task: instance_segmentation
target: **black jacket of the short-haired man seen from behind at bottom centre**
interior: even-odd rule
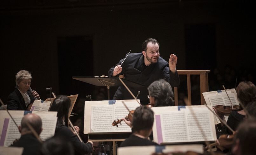
[[[129,138],[125,139],[120,145],[120,147],[125,146],[149,146],[149,145],[158,145],[155,142],[152,142],[146,138],[140,138],[134,134],[131,134]]]

